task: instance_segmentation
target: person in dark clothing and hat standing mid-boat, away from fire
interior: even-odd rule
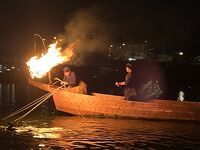
[[[133,77],[133,67],[130,63],[126,64],[126,72],[127,75],[125,77],[125,81],[123,82],[115,82],[116,86],[125,86],[124,88],[124,96],[125,100],[133,100],[136,96],[136,90],[134,88],[134,77]]]

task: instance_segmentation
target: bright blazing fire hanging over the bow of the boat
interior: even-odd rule
[[[61,52],[61,47],[57,47],[58,42],[49,45],[45,54],[41,57],[34,56],[26,64],[29,68],[31,78],[42,78],[51,68],[70,60],[76,42],[70,44]]]

